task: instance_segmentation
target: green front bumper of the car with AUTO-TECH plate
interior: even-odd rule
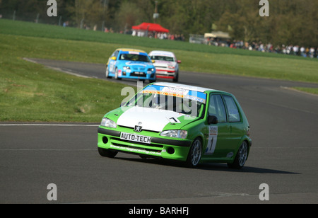
[[[121,132],[151,137],[151,144],[121,139]],[[189,139],[161,137],[158,132],[144,130],[137,133],[134,132],[133,129],[126,127],[117,127],[117,129],[107,127],[98,128],[98,147],[131,154],[186,161],[191,144],[192,141]]]

